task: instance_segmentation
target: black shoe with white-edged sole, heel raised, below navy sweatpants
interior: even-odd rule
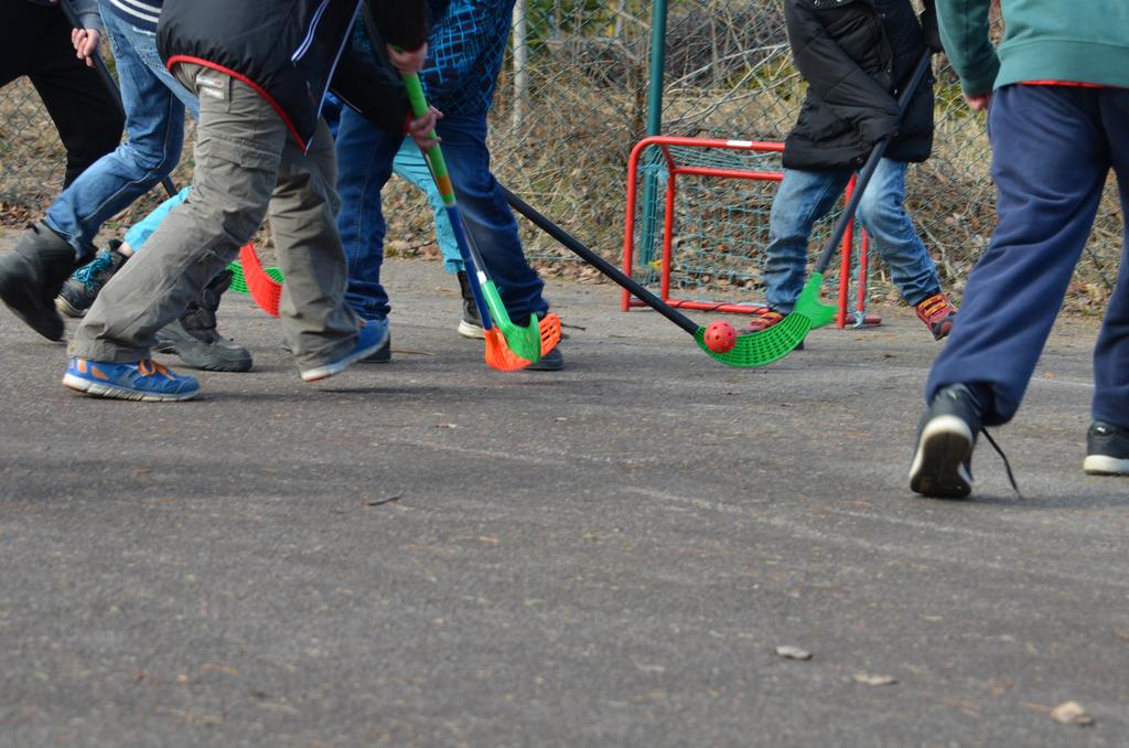
[[[937,416],[921,430],[910,488],[925,496],[964,498],[972,493],[972,476],[964,462],[972,454],[972,432],[956,416]]]

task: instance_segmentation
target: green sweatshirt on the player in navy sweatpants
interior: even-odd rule
[[[991,0],[936,0],[945,52],[966,94],[1056,80],[1129,88],[1129,0],[1001,0],[1004,41],[988,38]]]

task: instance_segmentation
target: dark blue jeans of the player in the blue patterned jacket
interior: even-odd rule
[[[466,231],[482,252],[510,319],[524,324],[549,305],[541,296],[544,284],[525,260],[514,214],[490,173],[485,114],[448,114],[437,130]],[[403,136],[377,129],[352,110],[342,111],[336,145],[338,229],[349,261],[345,301],[367,320],[384,319],[390,310],[380,285],[386,231],[380,190],[403,145]]]

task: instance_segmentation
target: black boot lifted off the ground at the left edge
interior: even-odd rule
[[[0,301],[47,340],[63,339],[63,318],[55,296],[75,271],[75,250],[44,223],[20,237],[11,254],[0,258]]]

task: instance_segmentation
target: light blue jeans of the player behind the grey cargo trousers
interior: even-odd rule
[[[95,253],[94,237],[103,223],[176,168],[184,146],[184,110],[193,116],[199,111],[195,98],[165,69],[155,35],[110,10],[102,15],[125,105],[126,140],[63,190],[45,218],[79,260]]]

